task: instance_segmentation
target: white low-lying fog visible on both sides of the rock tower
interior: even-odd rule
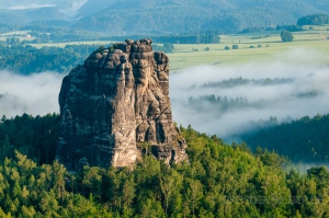
[[[268,62],[200,66],[170,74],[173,118],[183,126],[225,139],[248,130],[250,122],[329,113],[329,60],[314,50],[292,49]],[[30,77],[0,71],[0,116],[59,111],[64,74]]]

